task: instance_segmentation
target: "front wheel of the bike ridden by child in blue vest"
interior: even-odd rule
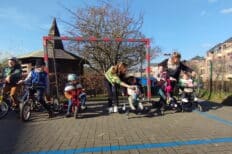
[[[22,121],[29,121],[31,117],[31,104],[33,100],[20,103],[20,119]]]

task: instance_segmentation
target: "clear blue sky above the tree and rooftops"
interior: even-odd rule
[[[53,17],[70,19],[62,5],[76,9],[96,0],[1,0],[0,56],[21,55],[42,49]],[[125,5],[126,0],[114,0]],[[131,13],[144,13],[142,32],[165,52],[177,49],[183,59],[206,51],[232,37],[231,0],[128,0]],[[67,26],[57,20],[60,33]],[[157,59],[160,61],[163,57]]]

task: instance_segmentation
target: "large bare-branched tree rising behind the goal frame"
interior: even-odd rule
[[[109,2],[103,2],[100,6],[86,6],[75,12],[67,10],[73,15],[74,21],[63,22],[72,27],[68,33],[73,37],[124,39],[145,37],[140,31],[143,15],[133,17],[128,6],[121,9]],[[70,42],[68,47],[87,59],[90,68],[100,74],[119,61],[136,66],[141,63],[141,59],[145,60],[146,53],[144,44],[139,42]]]

